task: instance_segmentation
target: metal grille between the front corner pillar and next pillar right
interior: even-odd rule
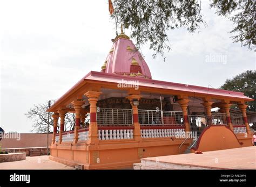
[[[103,125],[132,125],[131,109],[99,109],[97,112],[97,124]]]

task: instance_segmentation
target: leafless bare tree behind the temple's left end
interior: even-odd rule
[[[55,102],[55,100],[51,100],[52,104]],[[33,129],[32,132],[37,133],[47,133],[47,126],[48,126],[48,112],[46,110],[48,109],[48,102],[45,102],[43,104],[37,104],[34,105],[33,108],[31,108],[27,113],[25,113],[25,116],[33,121]],[[50,119],[49,119],[49,131],[53,131],[53,118],[51,115],[53,112],[50,112]],[[74,113],[66,113],[65,117],[65,131],[70,131],[75,126],[75,114]],[[58,125],[57,132],[59,132],[60,127]]]

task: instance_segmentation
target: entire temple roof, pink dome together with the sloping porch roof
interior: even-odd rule
[[[123,30],[113,41],[113,46],[102,66],[102,71],[90,71],[47,111],[55,111],[59,105],[72,102],[74,95],[85,92],[84,86],[87,83],[118,85],[120,80],[138,81],[138,86],[142,91],[147,90],[173,95],[185,94],[193,97],[210,96],[218,99],[230,99],[231,101],[254,100],[245,96],[242,92],[152,80],[147,63]]]

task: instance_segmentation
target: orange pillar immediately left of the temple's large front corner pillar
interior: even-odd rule
[[[78,130],[80,128],[80,115],[81,115],[81,110],[82,110],[83,104],[84,104],[84,102],[82,99],[77,99],[73,102],[73,106],[76,111],[76,125],[75,125],[73,143],[77,143],[77,141],[78,141]]]

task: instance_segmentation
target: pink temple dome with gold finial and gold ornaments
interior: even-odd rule
[[[133,77],[152,78],[150,69],[132,40],[124,34],[123,29],[106,57],[102,71],[110,74]]]

